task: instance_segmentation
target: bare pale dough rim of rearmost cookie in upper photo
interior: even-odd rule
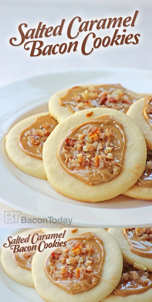
[[[99,84],[85,84],[85,85],[79,85],[79,86],[87,88],[89,85],[98,86]],[[51,112],[51,115],[57,120],[58,123],[60,123],[66,117],[73,114],[70,110],[68,110],[68,108],[66,106],[61,106],[60,103],[59,103],[59,99],[61,97],[63,97],[64,95],[66,95],[68,90],[71,89],[71,88],[72,87],[66,88],[66,89],[63,89],[63,90],[60,90],[60,91],[56,92],[54,95],[51,96],[51,98],[49,100],[49,104],[48,104],[49,112]],[[142,98],[143,96],[145,96],[145,94],[137,95],[134,92],[131,92],[131,93],[132,93],[133,96],[134,95],[138,96],[138,98]],[[90,108],[90,109],[92,109],[92,108]]]

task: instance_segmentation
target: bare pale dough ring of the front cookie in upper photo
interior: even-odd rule
[[[93,114],[86,117],[86,113],[90,111],[93,111]],[[62,168],[57,159],[57,148],[70,130],[104,115],[110,115],[122,124],[126,139],[122,165],[133,170],[137,175],[121,168],[119,175],[109,182],[89,186]],[[67,117],[57,125],[43,147],[44,169],[53,188],[69,198],[89,202],[114,198],[132,187],[144,172],[146,157],[146,143],[139,126],[126,114],[109,108],[86,109]]]

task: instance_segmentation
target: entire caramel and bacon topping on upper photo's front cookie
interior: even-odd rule
[[[102,116],[71,130],[57,149],[63,169],[87,185],[108,182],[120,170],[125,147],[122,125]]]

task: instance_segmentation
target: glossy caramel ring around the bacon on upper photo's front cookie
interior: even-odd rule
[[[94,120],[89,120],[88,122],[74,128],[61,141],[61,143],[57,149],[57,158],[60,162],[60,165],[63,167],[63,169],[66,172],[68,172],[70,175],[85,182],[87,185],[96,185],[96,184],[100,184],[102,182],[108,182],[112,178],[116,177],[121,170],[121,167],[119,167],[118,170],[112,174],[111,172],[108,171],[107,168],[101,169],[101,170],[94,169],[93,167],[91,167],[91,168],[87,167],[87,169],[82,169],[82,168],[70,169],[68,167],[68,165],[64,162],[62,150],[65,145],[65,139],[67,137],[73,137],[73,135],[75,135],[74,133],[76,133],[76,132],[79,133],[79,129],[84,129],[85,126],[87,127],[88,125],[94,126],[96,123],[103,124],[104,127],[107,127],[107,128],[109,127],[110,129],[111,129],[111,127],[113,127],[114,132],[117,131],[115,137],[118,136],[118,139],[120,141],[120,146],[119,146],[119,152],[118,152],[118,150],[116,151],[117,160],[113,160],[113,162],[115,162],[115,165],[121,166],[121,164],[119,162],[121,162],[122,158],[123,158],[123,153],[124,153],[124,148],[125,148],[125,134],[124,134],[122,125],[111,116],[103,116],[103,117],[99,117]],[[116,150],[115,147],[114,147],[114,150]]]

